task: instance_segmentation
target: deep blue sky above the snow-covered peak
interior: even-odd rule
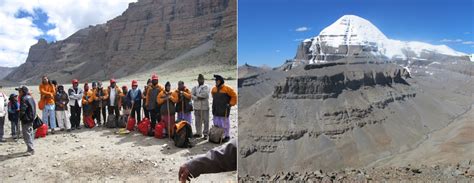
[[[388,38],[474,53],[473,0],[239,0],[239,65],[281,65],[302,39],[343,15],[365,18]],[[297,29],[300,28],[300,31]]]

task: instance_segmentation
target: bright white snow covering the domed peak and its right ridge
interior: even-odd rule
[[[324,28],[318,36],[312,39],[306,39],[304,42],[311,42],[310,51],[313,51],[313,54],[322,55],[327,53],[317,48],[321,46],[338,48],[340,45],[377,47],[377,49],[374,49],[376,50],[374,54],[384,55],[388,58],[406,59],[406,51],[415,53],[417,57],[419,57],[422,52],[435,52],[452,56],[466,55],[446,45],[431,45],[417,41],[406,42],[388,39],[370,21],[356,15],[342,16],[336,22]]]

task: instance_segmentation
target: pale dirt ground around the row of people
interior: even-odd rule
[[[231,75],[232,71],[225,74]],[[119,86],[129,85],[130,78],[119,79]],[[164,85],[165,79],[160,78],[160,84]],[[193,79],[189,77],[184,80],[190,88],[197,84]],[[139,82],[144,80],[139,78]],[[140,83],[140,88],[143,83]],[[173,81],[172,88],[176,83]],[[237,88],[236,80],[226,83]],[[206,84],[213,85],[213,81],[206,80]],[[30,89],[38,101],[38,86],[30,86]],[[2,92],[9,95],[14,90],[4,88]],[[41,115],[41,111],[38,112]],[[212,115],[210,118],[212,124]],[[182,149],[176,148],[168,139],[146,137],[138,132],[121,135],[116,133],[118,129],[95,127],[70,133],[61,131],[35,139],[35,155],[24,156],[26,145],[22,139],[14,141],[11,138],[8,120],[5,121],[4,131],[7,142],[0,143],[1,182],[177,182],[180,165],[219,146],[202,139],[193,139],[196,144],[193,148]],[[233,107],[231,138],[236,136],[237,107]],[[236,182],[236,175],[236,171],[208,174],[192,181]]]

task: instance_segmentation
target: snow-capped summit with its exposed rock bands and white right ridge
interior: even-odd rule
[[[468,56],[446,45],[387,38],[371,22],[355,15],[344,15],[324,28],[316,37],[306,39],[298,48],[296,59],[309,63],[327,62],[355,55],[376,55],[384,59],[424,59],[433,54]]]

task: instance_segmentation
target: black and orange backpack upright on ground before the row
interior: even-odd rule
[[[192,147],[189,139],[193,136],[191,125],[187,121],[180,121],[174,125],[173,141],[174,145],[179,148]]]

